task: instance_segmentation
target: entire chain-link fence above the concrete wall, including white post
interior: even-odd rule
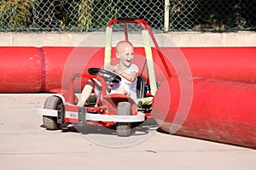
[[[154,31],[255,31],[256,0],[0,0],[0,31],[104,31],[119,16]]]

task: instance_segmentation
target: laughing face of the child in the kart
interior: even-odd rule
[[[127,45],[121,48],[116,55],[117,55],[117,58],[119,58],[119,63],[121,65],[125,65],[126,67],[129,67],[133,59],[133,54],[134,54],[133,48],[130,45]]]

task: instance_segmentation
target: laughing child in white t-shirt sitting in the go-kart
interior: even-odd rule
[[[108,65],[107,70],[117,73],[121,77],[119,88],[112,90],[111,94],[126,94],[132,99],[137,99],[137,74],[138,67],[132,63],[134,57],[134,49],[131,42],[121,41],[116,45],[116,57],[119,59],[119,64]],[[89,80],[82,91],[81,98],[79,99],[79,106],[84,106],[86,100],[90,97],[95,82]],[[99,85],[96,85],[99,86]]]

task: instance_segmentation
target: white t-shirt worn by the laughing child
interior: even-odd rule
[[[137,65],[131,64],[130,67],[125,71],[127,74],[131,74],[132,72],[138,73],[139,69]],[[120,76],[121,77],[121,76]],[[113,88],[111,89],[111,94],[116,93],[116,90],[119,88],[119,86],[122,86],[125,88],[125,94],[130,96],[132,99],[137,99],[137,78],[135,81],[130,82],[126,80],[124,77],[121,77],[121,82],[118,84],[114,84]]]

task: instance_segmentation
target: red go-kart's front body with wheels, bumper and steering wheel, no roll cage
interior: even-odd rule
[[[62,123],[73,123],[79,126],[97,125],[103,127],[116,127],[118,136],[131,135],[132,122],[144,122],[145,115],[139,111],[133,99],[124,94],[107,94],[110,82],[120,82],[117,74],[99,69],[90,68],[90,74],[73,75],[69,83],[69,93],[66,96],[55,94],[49,96],[44,103],[44,127],[56,130]],[[95,99],[88,99],[83,107],[77,106],[78,97],[74,95],[73,81],[76,78],[91,78],[101,82]],[[102,96],[102,101],[101,101]],[[67,100],[68,99],[68,100]]]

